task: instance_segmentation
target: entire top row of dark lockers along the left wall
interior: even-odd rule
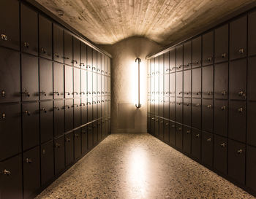
[[[0,45],[110,75],[110,58],[18,0],[2,0]],[[12,10],[12,12],[10,12]]]

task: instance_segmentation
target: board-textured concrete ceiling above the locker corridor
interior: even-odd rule
[[[162,46],[255,0],[36,0],[95,44],[145,36]]]

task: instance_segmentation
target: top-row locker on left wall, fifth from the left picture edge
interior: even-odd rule
[[[65,65],[72,66],[73,58],[73,42],[72,35],[64,31],[64,63]]]

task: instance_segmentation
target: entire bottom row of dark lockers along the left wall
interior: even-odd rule
[[[23,157],[16,155],[1,162],[1,198],[34,198],[41,187],[47,186],[109,133],[110,121],[102,118],[34,147],[24,152]]]

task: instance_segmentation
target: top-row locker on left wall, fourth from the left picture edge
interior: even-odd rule
[[[64,31],[53,23],[53,60],[64,62]]]

